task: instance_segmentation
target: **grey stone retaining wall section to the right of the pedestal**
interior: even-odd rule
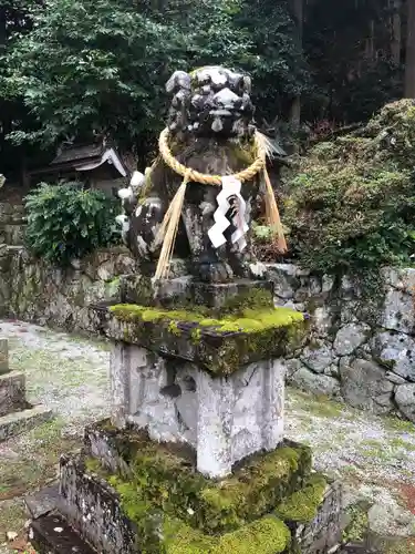
[[[288,264],[269,270],[277,304],[312,316],[309,343],[287,360],[288,381],[415,421],[415,269],[384,269],[372,299],[349,278],[320,278]]]

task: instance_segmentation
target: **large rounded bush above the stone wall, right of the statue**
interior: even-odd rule
[[[286,198],[292,252],[312,270],[350,273],[415,253],[415,103],[386,105],[355,135],[315,146]]]

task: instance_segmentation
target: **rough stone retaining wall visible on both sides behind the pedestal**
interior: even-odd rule
[[[93,332],[87,306],[116,296],[117,277],[135,270],[122,247],[62,270],[0,245],[0,317]],[[269,274],[278,305],[311,315],[309,342],[287,360],[288,381],[415,421],[415,269],[385,269],[385,290],[371,302],[346,278],[289,264],[269,265]]]

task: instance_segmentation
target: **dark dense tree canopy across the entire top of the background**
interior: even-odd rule
[[[2,167],[28,154],[39,164],[42,147],[102,134],[145,154],[169,74],[211,63],[252,75],[260,124],[289,120],[294,103],[311,127],[367,120],[402,98],[405,61],[411,90],[414,1],[2,2]]]

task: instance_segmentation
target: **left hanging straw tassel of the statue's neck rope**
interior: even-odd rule
[[[181,185],[177,189],[164,216],[162,227],[157,234],[157,242],[163,239],[163,246],[154,276],[155,280],[167,279],[168,277],[188,182],[189,173],[186,173]]]

